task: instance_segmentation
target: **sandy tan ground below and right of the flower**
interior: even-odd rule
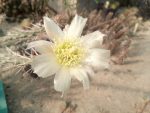
[[[22,74],[0,74],[10,113],[150,113],[150,22],[132,39],[124,65],[99,71],[89,90],[73,81],[61,98],[53,77],[33,79]]]

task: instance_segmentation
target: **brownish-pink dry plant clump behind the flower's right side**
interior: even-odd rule
[[[94,10],[88,15],[85,33],[99,30],[106,34],[103,47],[111,50],[111,61],[115,64],[123,64],[127,57],[131,44],[130,34],[134,26],[140,23],[140,19],[136,16],[137,12],[134,8],[125,9],[116,15],[113,12]]]

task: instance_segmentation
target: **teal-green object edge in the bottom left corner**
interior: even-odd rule
[[[0,113],[8,113],[2,81],[0,81]]]

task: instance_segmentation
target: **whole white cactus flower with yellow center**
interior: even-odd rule
[[[81,38],[86,21],[87,18],[75,15],[71,25],[62,31],[52,19],[44,17],[46,33],[53,42],[39,40],[28,45],[40,53],[31,64],[34,73],[43,78],[55,74],[56,91],[67,91],[72,77],[88,89],[88,75],[93,74],[93,68],[109,66],[110,51],[100,49],[104,34],[95,31]]]

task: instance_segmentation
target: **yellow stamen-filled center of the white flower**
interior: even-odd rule
[[[55,47],[54,52],[58,63],[64,67],[80,64],[84,56],[79,40],[64,40]]]

